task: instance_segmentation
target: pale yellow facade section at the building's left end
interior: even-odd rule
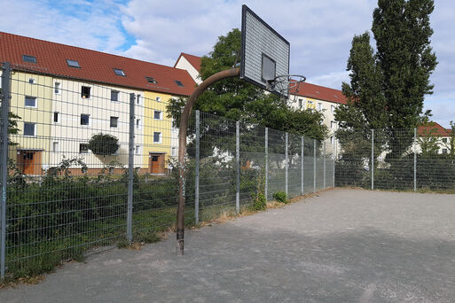
[[[12,136],[16,143],[10,148],[10,158],[17,159],[23,150],[41,151],[41,163],[49,163],[51,151],[51,111],[52,111],[52,78],[41,74],[29,74],[15,71],[11,82],[12,113],[20,116],[18,120],[18,136]],[[35,106],[26,105],[26,97],[35,99]],[[35,125],[33,136],[24,136],[24,124]],[[46,167],[43,167],[46,168]]]

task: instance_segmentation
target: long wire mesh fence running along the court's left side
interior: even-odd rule
[[[2,75],[2,276],[39,274],[169,230],[178,195],[173,96],[13,67]],[[186,140],[186,225],[260,195],[333,186],[333,154],[310,138],[195,112]]]

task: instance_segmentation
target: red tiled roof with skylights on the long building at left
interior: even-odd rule
[[[24,62],[22,55],[35,56],[37,63]],[[78,61],[81,68],[67,66],[67,59]],[[6,61],[16,69],[178,96],[190,96],[196,86],[183,69],[0,32],[0,62]],[[126,76],[114,74],[114,68],[122,69]],[[147,82],[146,76],[157,83]]]

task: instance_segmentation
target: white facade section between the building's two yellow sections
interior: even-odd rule
[[[59,83],[59,89],[56,83]],[[129,95],[134,93],[142,97],[144,92],[59,78],[53,79],[53,85],[50,167],[58,166],[64,157],[81,158],[89,168],[102,168],[112,161],[126,166],[129,152]],[[82,86],[90,88],[89,98],[82,97]],[[111,100],[112,90],[119,92],[118,101]],[[135,104],[137,116],[142,116],[143,105],[137,105],[137,99]],[[58,113],[58,121],[54,121],[54,113]],[[81,125],[82,114],[89,115],[89,125]],[[111,117],[118,117],[117,128],[110,126]],[[142,132],[143,128],[135,128],[135,145],[143,144]],[[80,144],[88,144],[91,136],[99,133],[119,139],[117,154],[102,157],[91,151],[80,152]],[[135,167],[140,167],[141,155],[135,155],[134,160]]]

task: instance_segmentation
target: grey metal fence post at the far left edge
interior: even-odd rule
[[[4,63],[2,74],[2,155],[0,159],[2,173],[2,204],[0,207],[0,278],[4,278],[6,253],[6,185],[8,181],[8,113],[10,111],[10,63]]]

